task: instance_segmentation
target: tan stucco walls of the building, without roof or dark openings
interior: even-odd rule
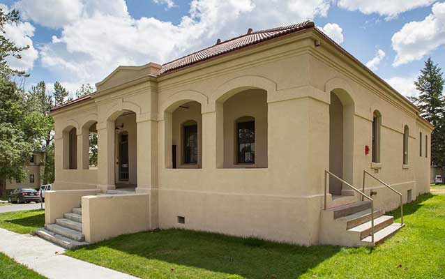
[[[315,47],[315,37],[322,46]],[[56,137],[56,185],[113,188],[114,120],[132,111],[137,126],[137,192],[149,194],[151,227],[317,243],[324,170],[330,162],[329,107],[334,90],[344,95],[342,101],[347,100],[342,178],[361,188],[366,169],[400,190],[405,201],[407,190],[412,190],[413,198],[428,191],[430,159],[419,158],[417,135],[423,129],[430,138],[431,127],[388,86],[308,32],[177,73],[105,89],[82,105],[55,112],[56,135],[66,126],[82,127],[85,121],[97,119],[99,144],[96,177],[85,177],[79,169],[72,173],[60,169],[62,142]],[[245,99],[249,94],[255,95],[253,101]],[[179,137],[180,122],[175,122],[172,112],[190,101],[201,106],[202,167],[172,169],[172,139]],[[372,154],[365,154],[365,146],[372,145],[374,110],[382,114],[379,165],[372,164]],[[255,120],[258,117],[263,125],[255,130],[257,139],[264,137],[267,149],[257,146],[257,168],[232,168],[234,160],[227,158],[234,155],[234,142],[230,143],[234,129],[229,126],[237,117],[252,114],[261,115]],[[405,125],[410,136],[409,164],[404,167]],[[377,207],[398,206],[398,197],[367,181],[367,193],[377,190]],[[345,190],[343,186],[342,193]],[[177,216],[186,218],[185,225],[178,223]]]

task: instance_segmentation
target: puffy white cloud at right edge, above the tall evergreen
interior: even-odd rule
[[[425,54],[445,45],[445,2],[435,3],[432,13],[420,22],[409,22],[391,38],[397,53],[393,66],[422,59]]]

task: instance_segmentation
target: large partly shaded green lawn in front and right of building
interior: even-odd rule
[[[389,214],[396,221],[400,211]],[[167,229],[67,255],[140,278],[445,278],[445,195],[404,206],[406,227],[376,248],[292,246]]]

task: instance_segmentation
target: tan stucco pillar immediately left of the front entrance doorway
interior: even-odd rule
[[[98,188],[114,186],[114,121],[98,123]]]

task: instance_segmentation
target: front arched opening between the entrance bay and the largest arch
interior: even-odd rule
[[[202,114],[196,101],[176,103],[165,111],[167,168],[202,167]]]

